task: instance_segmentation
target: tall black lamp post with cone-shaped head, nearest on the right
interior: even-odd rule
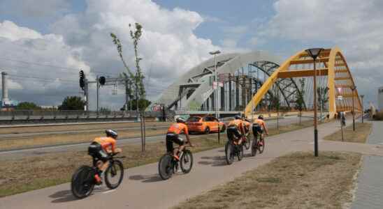
[[[323,48],[312,48],[306,49],[305,51],[314,60],[314,152],[315,157],[318,156],[318,127],[317,127],[317,71],[316,71],[316,60]]]

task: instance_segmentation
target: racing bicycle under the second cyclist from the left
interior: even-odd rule
[[[180,158],[180,161],[175,159],[172,151],[166,153],[159,159],[158,173],[163,180],[171,178],[171,176],[173,176],[173,174],[176,173],[179,168],[181,168],[182,173],[189,173],[192,170],[192,152],[185,147],[184,150],[180,152],[178,156]]]

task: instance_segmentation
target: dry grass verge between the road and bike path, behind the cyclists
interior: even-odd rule
[[[196,153],[223,146],[217,144],[214,134],[203,135],[192,139]],[[222,139],[224,140],[224,139]],[[166,152],[164,141],[147,143],[145,152],[141,152],[140,144],[122,146],[124,167],[138,167],[143,164],[157,162],[159,157]],[[41,189],[52,185],[66,183],[71,175],[82,164],[92,164],[92,158],[87,152],[66,152],[42,154],[38,157],[26,157],[20,160],[0,160],[0,197]]]

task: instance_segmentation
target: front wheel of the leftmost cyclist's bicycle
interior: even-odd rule
[[[124,178],[124,166],[120,160],[110,162],[108,169],[105,171],[105,184],[109,189],[117,188]]]

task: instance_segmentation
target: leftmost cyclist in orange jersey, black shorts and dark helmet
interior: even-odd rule
[[[97,168],[99,172],[94,175],[97,184],[101,184],[101,173],[109,166],[108,153],[121,153],[120,148],[116,148],[117,132],[114,130],[106,130],[106,137],[97,137],[89,145],[88,153],[92,156],[93,160],[97,160]]]

